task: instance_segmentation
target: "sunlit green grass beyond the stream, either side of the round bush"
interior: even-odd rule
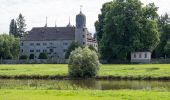
[[[0,65],[0,76],[67,76],[66,64]],[[113,77],[170,77],[170,64],[102,65],[98,74]]]

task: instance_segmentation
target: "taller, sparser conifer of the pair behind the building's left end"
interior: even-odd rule
[[[17,26],[18,26],[18,34],[19,36],[23,36],[26,30],[26,24],[25,24],[25,18],[22,16],[22,14],[19,14],[19,17],[17,18]]]

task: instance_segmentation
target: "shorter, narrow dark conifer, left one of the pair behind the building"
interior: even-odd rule
[[[15,37],[18,37],[17,25],[16,25],[16,21],[14,19],[12,19],[10,22],[9,34],[14,35]]]

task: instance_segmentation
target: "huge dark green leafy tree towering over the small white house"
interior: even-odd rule
[[[159,43],[157,9],[154,4],[143,6],[139,0],[104,4],[96,22],[102,59],[129,60],[131,52],[152,52]]]

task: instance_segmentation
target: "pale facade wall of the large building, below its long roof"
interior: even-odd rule
[[[48,54],[48,56],[54,56],[54,58],[64,59],[65,52],[72,41],[73,40],[21,41],[21,44],[23,43],[23,46],[20,46],[20,52],[21,55],[29,56],[30,54],[34,54],[35,57],[38,58],[39,54],[42,53],[43,50],[46,50],[47,53],[50,53],[50,49],[53,49],[53,52],[51,54]],[[33,43],[34,45],[31,45],[31,43]],[[37,43],[40,43],[40,45],[37,45]],[[46,43],[47,45],[43,45],[44,43]],[[34,50],[34,52],[30,52],[30,50]],[[37,52],[37,50],[40,50],[40,52]]]

